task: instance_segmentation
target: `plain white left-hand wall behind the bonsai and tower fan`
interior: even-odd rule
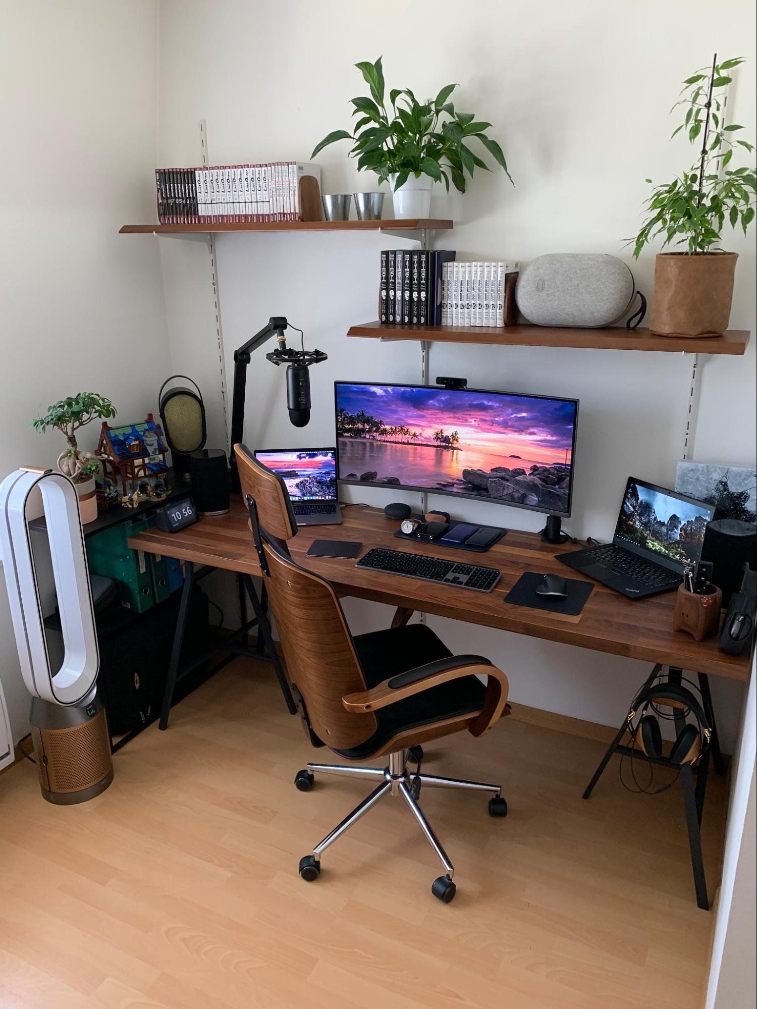
[[[28,423],[56,400],[101,393],[124,422],[155,410],[169,348],[157,249],[117,234],[153,213],[156,0],[3,0],[0,19],[2,478],[55,462],[62,436]],[[0,680],[18,740],[28,696],[2,577]]]

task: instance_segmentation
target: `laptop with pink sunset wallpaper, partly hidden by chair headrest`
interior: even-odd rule
[[[336,449],[260,449],[255,458],[284,479],[298,526],[342,521],[336,490]]]

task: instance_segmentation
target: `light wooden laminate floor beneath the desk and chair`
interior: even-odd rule
[[[295,772],[318,756],[269,667],[237,660],[115,758],[110,789],[42,801],[34,768],[0,777],[2,1009],[689,1009],[712,917],[697,910],[680,791],[632,796],[603,744],[501,722],[429,746],[427,769],[500,779],[510,804],[427,789],[456,868],[430,894],[431,849],[388,799],[307,854],[366,793]],[[644,769],[642,769],[643,772]],[[665,772],[659,772],[664,775]],[[725,788],[705,814],[711,897]]]

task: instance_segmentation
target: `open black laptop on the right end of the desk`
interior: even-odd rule
[[[629,477],[613,542],[558,559],[630,599],[677,588],[701,556],[715,504]]]

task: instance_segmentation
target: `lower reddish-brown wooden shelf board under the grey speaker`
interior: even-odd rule
[[[687,351],[742,355],[750,331],[731,329],[723,336],[656,336],[648,329],[567,329],[551,326],[401,326],[366,322],[350,326],[347,336],[382,340],[430,340],[441,343],[485,343],[513,347],[580,347],[599,350]]]

